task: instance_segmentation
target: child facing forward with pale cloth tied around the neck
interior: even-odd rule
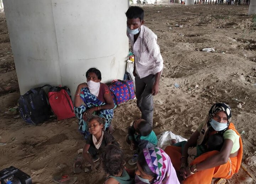
[[[99,153],[109,144],[114,144],[119,147],[114,137],[104,129],[105,119],[99,116],[92,116],[88,121],[90,134],[85,141],[82,155],[85,158],[85,166],[90,167],[92,171],[96,170],[95,162],[99,160]],[[91,155],[87,154],[87,151]]]

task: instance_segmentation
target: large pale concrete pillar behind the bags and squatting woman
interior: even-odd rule
[[[74,94],[91,67],[123,79],[127,0],[4,0],[21,94],[43,84]]]

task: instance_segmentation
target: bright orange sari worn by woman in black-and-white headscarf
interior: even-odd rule
[[[240,136],[236,131],[233,123],[230,123],[229,129],[232,129]],[[240,148],[238,150],[238,156],[229,158],[229,161],[223,165],[206,169],[203,171],[196,172],[195,174],[188,177],[183,181],[183,184],[210,184],[212,178],[226,178],[230,179],[233,174],[237,173],[242,161],[242,139],[239,138]],[[176,171],[180,171],[180,157],[181,157],[181,147],[167,146],[164,150],[167,155],[171,158],[172,165]],[[208,157],[217,154],[218,151],[209,151],[192,161],[191,165],[200,163],[206,160]]]

